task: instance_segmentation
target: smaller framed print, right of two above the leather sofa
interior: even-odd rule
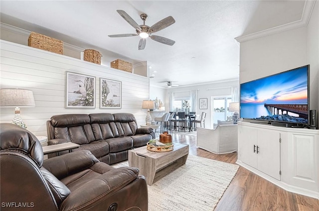
[[[122,107],[122,82],[100,78],[100,108]]]

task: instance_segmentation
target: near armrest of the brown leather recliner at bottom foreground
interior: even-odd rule
[[[139,177],[139,170],[137,168],[115,168],[87,182],[76,190],[73,190],[63,201],[60,210],[68,211],[79,209],[106,211],[108,206],[114,203],[114,199],[116,199],[119,206],[121,206],[120,204],[122,203],[119,203],[118,201],[122,201],[121,198],[123,198],[124,195],[121,194],[121,196],[114,197],[114,194],[136,180],[144,180],[144,183],[146,184],[145,178],[143,176]],[[132,188],[127,191],[127,194],[131,197],[125,196],[125,199],[134,199],[136,192],[143,191],[144,193],[147,193],[147,185],[140,185],[140,187],[135,187],[134,190],[131,189]]]

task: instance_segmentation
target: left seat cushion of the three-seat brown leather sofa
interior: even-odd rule
[[[97,159],[101,159],[105,155],[109,154],[109,143],[100,140],[100,141],[92,141],[89,144],[81,144],[79,148],[73,149],[73,151],[78,150],[89,150]]]

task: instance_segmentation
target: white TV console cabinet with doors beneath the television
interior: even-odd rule
[[[236,163],[286,191],[319,199],[319,130],[238,122]]]

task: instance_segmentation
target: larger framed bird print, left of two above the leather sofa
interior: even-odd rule
[[[95,77],[66,72],[66,108],[95,108]]]

